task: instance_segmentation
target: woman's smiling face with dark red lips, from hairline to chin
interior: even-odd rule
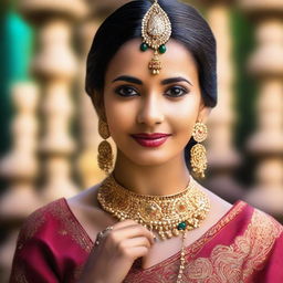
[[[182,158],[195,123],[203,120],[197,65],[180,43],[170,40],[160,55],[163,70],[153,75],[153,50],[139,51],[140,40],[124,44],[111,61],[104,106],[119,158],[157,166]]]

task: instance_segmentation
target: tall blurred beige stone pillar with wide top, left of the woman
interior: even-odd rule
[[[38,27],[39,50],[32,64],[43,85],[43,137],[40,149],[46,178],[46,201],[76,193],[71,178],[71,157],[75,143],[70,133],[74,112],[72,82],[77,72],[71,46],[72,22],[86,13],[82,0],[22,0],[22,13]]]

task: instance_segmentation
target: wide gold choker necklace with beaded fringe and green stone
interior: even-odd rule
[[[118,220],[135,220],[163,240],[198,228],[210,208],[208,196],[193,181],[176,195],[147,196],[123,188],[112,175],[99,187],[97,199]]]

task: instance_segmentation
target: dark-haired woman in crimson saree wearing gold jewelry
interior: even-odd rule
[[[282,226],[220,199],[187,166],[205,175],[217,104],[214,38],[193,8],[119,8],[95,35],[86,91],[105,139],[99,166],[112,170],[111,136],[114,169],[29,217],[10,282],[283,282]]]

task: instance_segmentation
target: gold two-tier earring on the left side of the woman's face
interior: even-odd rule
[[[111,133],[109,133],[107,123],[105,123],[102,119],[98,120],[98,133],[101,137],[104,139],[98,145],[98,156],[97,156],[98,166],[106,174],[109,174],[113,167],[113,151],[112,151],[111,144],[106,139],[111,136]]]

